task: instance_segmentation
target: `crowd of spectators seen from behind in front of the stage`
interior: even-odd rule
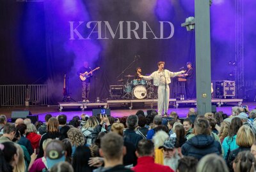
[[[255,171],[256,110],[232,107],[186,118],[147,114],[114,118],[45,115],[8,122],[0,115],[0,172]]]

